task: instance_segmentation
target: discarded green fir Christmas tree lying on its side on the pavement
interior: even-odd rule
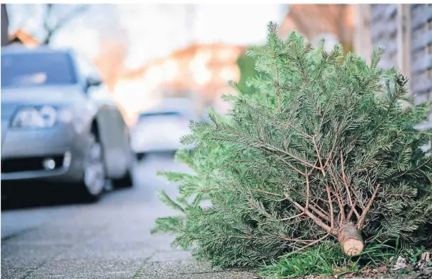
[[[196,148],[177,158],[195,173],[164,173],[181,196],[161,194],[181,215],[154,232],[216,266],[256,266],[324,239],[348,256],[370,238],[432,245],[432,156],[421,149],[432,130],[414,129],[430,103],[402,106],[407,79],[377,67],[380,49],[370,64],[342,54],[297,33],[281,40],[270,24],[267,45],[248,51],[258,93],[228,96],[225,119],[192,123],[182,141]]]

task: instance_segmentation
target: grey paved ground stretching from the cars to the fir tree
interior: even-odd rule
[[[135,278],[150,257],[171,249],[171,237],[149,232],[156,217],[172,213],[158,190],[176,194],[158,169],[187,171],[172,155],[149,155],[137,166],[134,188],[113,190],[96,204],[51,198],[2,210],[1,278]]]

